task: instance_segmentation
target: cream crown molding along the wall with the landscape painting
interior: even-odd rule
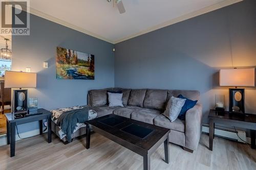
[[[44,13],[44,12],[41,12],[41,11],[38,11],[38,10],[36,10],[36,9],[34,9],[34,8],[31,8],[31,7],[30,7],[30,12],[29,12],[29,13],[31,13],[31,14],[33,14],[33,15],[36,15],[36,16],[39,16],[39,17],[41,17],[41,18],[50,20],[50,21],[52,21],[52,22],[58,23],[59,25],[62,25],[62,26],[71,28],[71,29],[76,30],[76,31],[79,31],[79,32],[81,32],[81,33],[84,33],[84,34],[90,35],[90,36],[92,36],[92,37],[95,37],[95,38],[101,39],[101,40],[103,40],[103,41],[110,42],[110,43],[114,44],[113,41],[111,41],[111,40],[109,40],[109,39],[107,39],[107,38],[105,38],[105,37],[102,37],[102,36],[100,36],[100,35],[97,35],[97,34],[95,34],[95,33],[92,33],[92,32],[90,32],[90,31],[87,31],[87,30],[82,29],[82,28],[80,28],[80,27],[77,27],[77,26],[73,25],[72,23],[69,23],[69,22],[66,22],[66,21],[64,21],[64,20],[58,19],[58,18],[56,18],[56,17],[54,17],[54,16],[48,15],[48,14],[46,14],[46,13]]]

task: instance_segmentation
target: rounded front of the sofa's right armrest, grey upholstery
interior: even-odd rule
[[[195,151],[202,131],[202,105],[196,104],[186,112],[185,147]]]

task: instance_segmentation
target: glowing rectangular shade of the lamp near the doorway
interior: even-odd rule
[[[35,72],[5,71],[5,88],[35,88]]]

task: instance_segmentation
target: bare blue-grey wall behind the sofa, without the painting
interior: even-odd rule
[[[212,11],[115,45],[115,87],[200,90],[204,122],[219,87],[221,67],[256,65],[256,1]],[[255,88],[246,111],[256,113]]]

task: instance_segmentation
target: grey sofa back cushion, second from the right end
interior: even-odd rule
[[[143,107],[148,109],[164,110],[167,90],[147,89]]]

